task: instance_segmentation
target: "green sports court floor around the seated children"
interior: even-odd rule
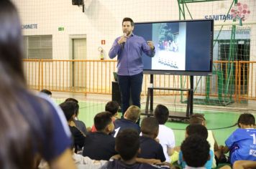
[[[68,97],[66,97],[68,98]],[[76,97],[74,97],[76,98]],[[76,98],[77,99],[77,98]],[[54,99],[58,104],[63,102],[65,99]],[[106,102],[97,100],[79,100],[79,120],[85,122],[86,127],[93,125],[93,117],[98,113],[104,111]],[[163,104],[164,105],[164,104]],[[168,105],[166,105],[168,107]],[[142,104],[142,109],[145,104]],[[155,107],[155,105],[154,105]],[[170,107],[168,107],[171,110]],[[235,123],[239,117],[239,112],[229,112],[227,110],[202,110],[201,107],[194,107],[194,113],[204,113],[206,117],[206,127],[209,130],[213,130],[219,145],[224,145],[227,137],[237,128]],[[141,117],[143,118],[143,116]],[[167,122],[165,123],[168,127],[173,129],[175,133],[175,144],[180,145],[185,137],[185,128],[188,124],[183,122]]]

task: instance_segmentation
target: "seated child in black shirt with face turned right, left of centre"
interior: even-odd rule
[[[109,160],[116,155],[114,137],[109,135],[114,130],[110,112],[100,112],[94,117],[97,132],[89,132],[83,147],[83,156],[94,160]]]

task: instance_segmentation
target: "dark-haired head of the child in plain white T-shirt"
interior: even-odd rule
[[[164,125],[167,122],[169,117],[169,110],[164,105],[157,105],[155,107],[155,118],[159,122],[160,125]]]

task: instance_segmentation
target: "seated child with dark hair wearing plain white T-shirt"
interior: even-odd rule
[[[163,147],[166,162],[170,163],[170,155],[173,155],[173,148],[175,147],[175,137],[173,130],[165,126],[165,122],[167,122],[169,117],[169,110],[164,105],[157,105],[154,115],[159,122],[157,139]]]

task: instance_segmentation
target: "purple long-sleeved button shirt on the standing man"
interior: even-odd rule
[[[109,57],[113,59],[117,55],[117,74],[122,76],[132,76],[143,71],[142,52],[149,57],[155,56],[155,49],[150,49],[145,39],[132,34],[127,37],[124,46],[117,42],[116,38],[109,51]]]

